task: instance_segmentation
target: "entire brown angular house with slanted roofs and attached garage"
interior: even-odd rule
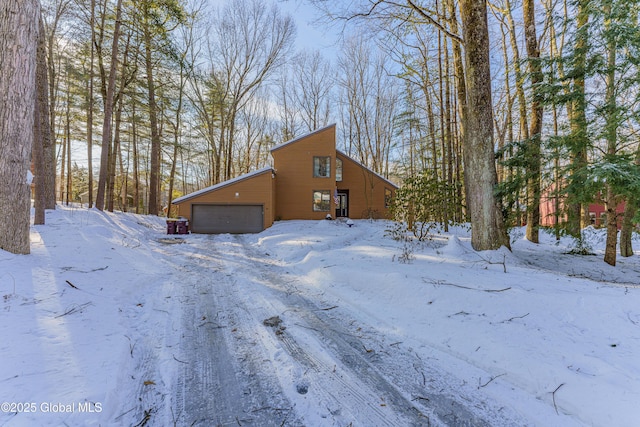
[[[336,149],[330,125],[271,149],[273,167],[173,201],[194,233],[256,233],[276,220],[385,218],[397,186]]]

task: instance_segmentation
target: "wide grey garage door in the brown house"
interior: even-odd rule
[[[194,233],[259,233],[263,230],[262,205],[193,205]]]

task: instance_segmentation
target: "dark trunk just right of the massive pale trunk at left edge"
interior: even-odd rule
[[[36,104],[34,109],[33,123],[33,163],[35,173],[35,199],[34,208],[35,216],[34,224],[45,223],[45,209],[47,209],[47,196],[50,191],[47,186],[51,185],[51,179],[48,177],[51,168],[47,167],[49,161],[45,148],[51,148],[51,133],[49,130],[49,85],[47,80],[47,46],[45,41],[44,24],[42,17],[39,19],[39,35],[37,47],[37,65],[36,65]],[[50,165],[51,166],[51,165]],[[54,179],[54,206],[55,206],[55,167],[53,168]]]

